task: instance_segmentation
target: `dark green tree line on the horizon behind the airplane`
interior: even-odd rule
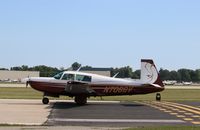
[[[55,74],[65,71],[65,70],[77,70],[81,64],[78,62],[75,62],[71,65],[70,68],[64,69],[56,68],[56,67],[50,67],[45,65],[39,65],[34,67],[28,67],[27,65],[22,66],[16,66],[11,67],[10,70],[15,71],[39,71],[41,77],[52,77]],[[82,68],[92,68],[91,66],[83,66]],[[0,70],[9,70],[6,68],[0,68]],[[139,79],[140,78],[140,70],[133,71],[130,66],[125,66],[121,68],[110,68],[111,70],[111,76],[114,76],[118,73],[116,77],[118,78],[134,78]],[[177,71],[172,70],[169,71],[167,69],[161,68],[159,70],[159,74],[161,79],[164,80],[176,80],[178,82],[200,82],[200,69],[191,70],[191,69],[179,69]]]

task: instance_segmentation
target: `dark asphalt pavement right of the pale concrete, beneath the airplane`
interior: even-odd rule
[[[84,106],[56,102],[46,124],[112,127],[200,124],[198,113],[190,111],[192,114],[186,116],[189,111],[178,114],[179,109],[172,111],[167,106],[169,107],[169,102],[89,102]],[[184,118],[178,117],[181,115],[185,115]]]

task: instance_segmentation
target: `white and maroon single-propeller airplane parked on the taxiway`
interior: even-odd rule
[[[26,84],[44,93],[42,103],[48,104],[50,97],[65,95],[75,97],[78,105],[87,103],[91,96],[137,95],[161,92],[164,85],[151,59],[141,60],[140,79],[122,79],[79,71],[64,71],[54,77],[29,77]],[[156,100],[161,100],[160,93]]]

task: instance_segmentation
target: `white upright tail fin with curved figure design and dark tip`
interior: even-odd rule
[[[161,87],[164,87],[158,70],[156,69],[156,66],[151,59],[142,59],[141,60],[141,77],[140,80],[143,83],[149,83],[149,84],[157,84]]]

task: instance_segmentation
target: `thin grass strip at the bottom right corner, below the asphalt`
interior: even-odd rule
[[[158,127],[138,127],[126,130],[200,130],[199,126],[158,126]]]

